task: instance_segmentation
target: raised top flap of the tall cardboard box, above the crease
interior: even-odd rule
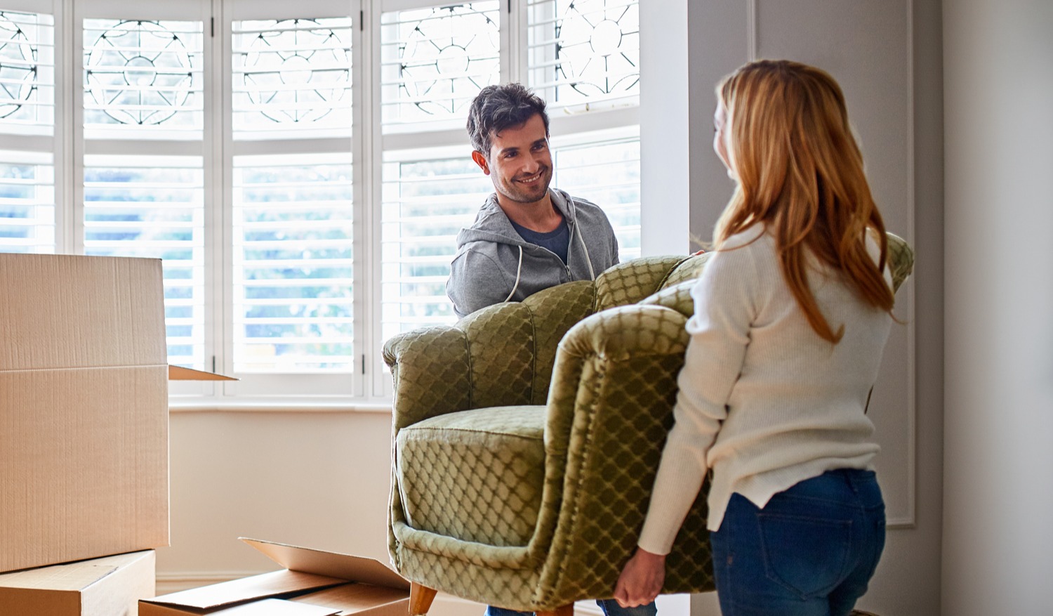
[[[0,254],[0,371],[167,364],[160,259]]]

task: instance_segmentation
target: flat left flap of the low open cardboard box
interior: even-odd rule
[[[233,605],[253,599],[275,597],[311,589],[322,589],[343,583],[344,581],[322,575],[283,570],[219,582],[188,591],[179,591],[178,593],[161,595],[153,599],[143,599],[143,601],[161,605],[214,610],[223,605]]]

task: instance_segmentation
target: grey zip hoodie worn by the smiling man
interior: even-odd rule
[[[567,264],[520,237],[497,204],[497,195],[491,195],[472,226],[457,234],[446,295],[458,317],[502,301],[520,301],[563,282],[593,280],[618,262],[618,240],[598,205],[557,188],[549,188],[549,195],[570,231]]]

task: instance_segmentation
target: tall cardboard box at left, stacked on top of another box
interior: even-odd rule
[[[0,572],[168,544],[168,373],[159,259],[0,254]]]

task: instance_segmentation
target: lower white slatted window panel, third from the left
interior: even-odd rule
[[[234,159],[235,372],[350,372],[351,155]]]

